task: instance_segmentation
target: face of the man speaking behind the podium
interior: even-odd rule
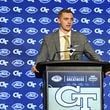
[[[62,13],[61,17],[58,19],[60,24],[60,29],[64,32],[69,32],[73,24],[73,15],[72,13]]]

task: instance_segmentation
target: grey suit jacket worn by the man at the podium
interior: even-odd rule
[[[84,54],[91,61],[102,61],[82,33],[71,32],[71,46],[76,50],[73,52],[71,60],[83,60]],[[51,33],[44,38],[36,64],[50,60],[60,60],[59,31]]]

